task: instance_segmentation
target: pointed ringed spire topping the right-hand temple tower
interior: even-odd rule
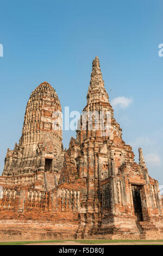
[[[87,92],[87,103],[98,101],[108,102],[109,96],[104,88],[104,81],[100,69],[99,59],[96,56],[92,62],[90,86]]]

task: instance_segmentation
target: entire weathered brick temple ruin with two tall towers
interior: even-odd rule
[[[83,129],[81,115],[64,150],[62,131],[53,129],[53,112],[61,111],[57,93],[44,82],[30,95],[22,136],[8,149],[0,177],[0,240],[163,239],[158,181],[142,149],[137,164],[122,140],[98,57],[83,110],[109,111],[110,134]]]

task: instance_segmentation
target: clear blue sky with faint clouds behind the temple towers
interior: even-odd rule
[[[62,109],[82,112],[98,56],[124,141],[135,161],[143,149],[149,174],[163,185],[162,8],[159,0],[1,1],[0,173],[21,136],[30,93],[47,81]],[[63,132],[65,147],[71,136]]]

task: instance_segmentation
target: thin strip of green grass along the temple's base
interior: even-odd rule
[[[163,242],[163,240],[40,240],[40,241],[13,241],[13,242],[0,242],[0,245],[27,245],[28,243],[55,243],[55,242],[66,242],[66,241],[75,241],[79,243],[89,243],[93,245],[95,243],[117,243],[117,242]]]

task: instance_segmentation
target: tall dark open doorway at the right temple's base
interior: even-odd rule
[[[141,186],[132,185],[134,212],[137,221],[143,221],[142,205],[141,205]]]

